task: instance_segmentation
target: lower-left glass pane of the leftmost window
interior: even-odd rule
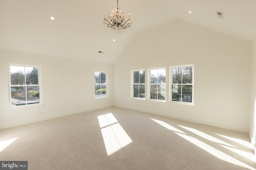
[[[26,105],[26,88],[11,87],[12,106]]]

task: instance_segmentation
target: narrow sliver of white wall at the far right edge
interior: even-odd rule
[[[252,43],[252,93],[250,112],[250,139],[256,154],[256,41]]]

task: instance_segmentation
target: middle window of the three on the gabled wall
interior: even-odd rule
[[[150,99],[165,101],[166,69],[156,68],[150,71]]]

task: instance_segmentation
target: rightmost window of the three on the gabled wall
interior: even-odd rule
[[[171,78],[171,101],[193,103],[194,89],[194,66],[172,66],[170,67]]]

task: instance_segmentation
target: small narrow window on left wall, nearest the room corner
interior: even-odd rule
[[[94,72],[95,98],[107,97],[108,84],[106,72]]]

